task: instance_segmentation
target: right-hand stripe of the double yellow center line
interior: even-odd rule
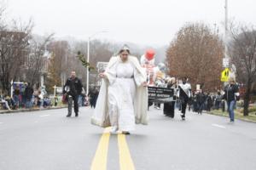
[[[135,168],[131,160],[128,144],[126,143],[125,134],[118,134],[118,142],[120,170],[134,170]]]

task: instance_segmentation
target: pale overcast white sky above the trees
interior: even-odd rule
[[[205,21],[220,31],[224,0],[7,0],[9,17],[32,20],[34,33],[167,45],[186,22]],[[229,0],[229,17],[256,25],[255,0]]]

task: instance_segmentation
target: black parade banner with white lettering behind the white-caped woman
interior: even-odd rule
[[[160,102],[170,102],[176,99],[174,88],[148,87],[148,99]]]

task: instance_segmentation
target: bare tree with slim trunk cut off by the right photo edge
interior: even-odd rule
[[[230,56],[236,65],[239,82],[246,87],[244,96],[244,116],[248,116],[248,106],[252,90],[256,82],[256,30],[253,26],[232,26],[230,42]]]

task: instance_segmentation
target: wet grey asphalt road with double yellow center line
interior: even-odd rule
[[[70,118],[67,109],[0,115],[0,169],[256,169],[256,123],[192,112],[183,122],[178,111],[172,119],[152,107],[148,126],[121,136],[90,125],[92,111],[80,108]]]

